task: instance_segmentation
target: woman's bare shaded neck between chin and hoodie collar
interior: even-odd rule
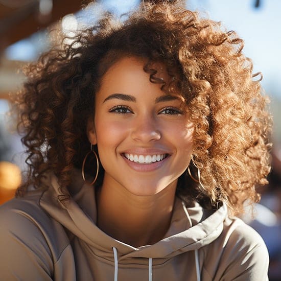
[[[173,211],[176,182],[150,196],[103,184],[97,194],[97,225],[109,236],[134,247],[160,241]]]

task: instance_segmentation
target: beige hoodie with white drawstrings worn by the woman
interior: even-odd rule
[[[92,186],[77,177],[65,207],[56,177],[48,182],[0,206],[1,280],[268,280],[263,240],[225,205],[210,212],[176,198],[166,236],[135,248],[96,226]]]

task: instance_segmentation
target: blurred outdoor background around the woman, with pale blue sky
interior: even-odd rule
[[[169,0],[167,0],[169,1]],[[99,19],[103,11],[122,15],[140,0],[0,0],[0,204],[14,196],[25,171],[24,147],[7,111],[12,95],[25,80],[20,69],[35,61],[52,44],[55,32],[73,32]],[[154,1],[157,2],[157,1]],[[171,2],[171,0],[170,0]],[[270,280],[281,280],[281,1],[187,0],[186,8],[198,10],[235,30],[245,41],[244,54],[262,72],[262,86],[271,98],[274,118],[272,172],[261,190],[255,219],[245,216],[264,238],[270,253]],[[90,5],[86,6],[88,3]],[[69,39],[71,40],[71,39]],[[250,212],[249,212],[250,213]]]

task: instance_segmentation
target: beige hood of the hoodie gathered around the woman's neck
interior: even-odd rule
[[[79,171],[74,173],[73,184],[69,188],[72,197],[65,205],[57,199],[61,194],[57,178],[49,175],[46,181],[49,189],[41,197],[42,208],[74,236],[109,260],[113,260],[112,248],[118,249],[119,261],[133,257],[167,259],[197,250],[219,237],[227,217],[225,205],[210,213],[197,202],[185,206],[185,202],[176,197],[170,228],[165,237],[153,245],[135,248],[115,240],[96,226],[95,188],[83,182]]]

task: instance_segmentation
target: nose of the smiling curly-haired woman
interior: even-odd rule
[[[135,120],[131,137],[143,143],[153,142],[161,138],[159,124],[152,116],[143,116]]]

